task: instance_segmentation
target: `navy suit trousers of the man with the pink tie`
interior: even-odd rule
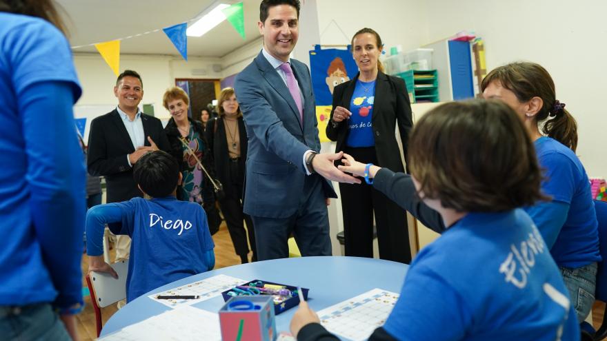
[[[299,209],[287,218],[253,216],[259,260],[287,258],[295,237],[301,256],[331,256],[329,216],[320,176],[306,176]]]

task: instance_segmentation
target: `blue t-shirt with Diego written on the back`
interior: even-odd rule
[[[167,283],[210,270],[203,254],[215,244],[199,204],[170,196],[132,198],[108,205],[122,209],[122,223],[110,224],[110,230],[132,238],[128,302]]]

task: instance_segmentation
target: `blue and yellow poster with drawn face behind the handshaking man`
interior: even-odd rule
[[[316,99],[316,118],[321,142],[328,142],[325,131],[331,113],[333,89],[352,79],[358,68],[350,47],[346,50],[335,48],[321,49],[316,45],[310,51],[310,73],[312,74],[312,88]]]

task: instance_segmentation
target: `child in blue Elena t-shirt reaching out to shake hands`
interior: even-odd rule
[[[417,194],[448,229],[413,260],[370,340],[579,340],[559,269],[517,208],[547,198],[515,112],[500,101],[440,105],[415,125],[409,152]],[[349,155],[344,164],[390,198],[406,177]],[[302,302],[290,328],[299,341],[337,340],[319,323]]]

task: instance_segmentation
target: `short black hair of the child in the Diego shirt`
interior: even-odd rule
[[[169,196],[177,188],[179,165],[170,154],[157,150],[139,158],[133,167],[133,178],[152,198]]]

